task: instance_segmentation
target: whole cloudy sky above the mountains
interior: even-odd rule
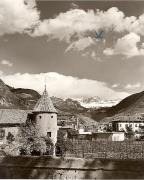
[[[143,91],[144,2],[0,1],[0,78],[64,98]]]

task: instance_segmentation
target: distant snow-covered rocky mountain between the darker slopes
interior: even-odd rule
[[[75,100],[77,100],[83,107],[98,109],[101,107],[112,107],[118,104],[121,99],[107,100],[107,99],[102,99],[98,96],[95,96],[95,97],[82,97],[82,98],[77,98]]]

